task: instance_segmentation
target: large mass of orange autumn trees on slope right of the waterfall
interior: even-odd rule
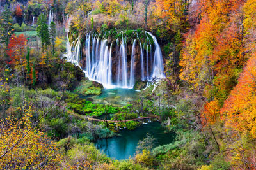
[[[220,108],[237,78],[246,56],[243,47],[243,0],[200,1],[202,20],[186,37],[181,53],[180,78],[193,84],[211,101],[202,112],[204,124],[220,118]],[[206,121],[207,120],[207,121]]]

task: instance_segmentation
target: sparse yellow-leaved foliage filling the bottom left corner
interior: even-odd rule
[[[0,121],[0,167],[4,169],[56,169],[61,157],[58,148],[44,132],[33,128],[32,108],[20,108],[20,120],[8,117]]]

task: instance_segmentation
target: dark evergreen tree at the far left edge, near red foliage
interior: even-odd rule
[[[1,15],[1,43],[4,43],[6,46],[9,44],[9,39],[13,33],[13,25],[12,25],[12,15],[11,11],[8,8],[7,4],[4,6],[4,11]]]

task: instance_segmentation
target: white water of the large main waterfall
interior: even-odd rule
[[[108,44],[108,38],[99,38],[97,34],[87,34],[85,40],[86,63],[85,69],[82,69],[79,61],[81,60],[81,42],[79,37],[71,44],[67,38],[67,53],[64,57],[68,62],[73,62],[79,66],[89,80],[102,83],[104,88],[124,88],[131,89],[135,83],[135,71],[141,71],[142,81],[152,81],[154,79],[165,78],[163,67],[163,56],[161,48],[157,43],[157,39],[150,32],[147,33],[153,41],[151,45],[147,37],[147,49],[143,49],[140,39],[134,39],[132,43],[131,60],[127,60],[127,43],[126,37],[122,38],[121,44],[116,40],[116,50],[113,51],[113,43]],[[141,67],[136,67],[136,41],[140,43],[140,64]],[[150,48],[150,50],[149,50]],[[152,48],[154,48],[152,50]],[[146,53],[146,55],[144,55]],[[115,54],[115,55],[113,55]],[[115,56],[115,57],[113,57]],[[154,58],[153,58],[154,56]],[[117,60],[116,60],[117,59]],[[113,61],[115,66],[113,67]],[[140,69],[140,70],[139,70]],[[117,73],[113,73],[113,70]],[[129,73],[127,72],[129,71]]]

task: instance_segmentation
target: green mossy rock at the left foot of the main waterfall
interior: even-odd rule
[[[83,78],[74,92],[83,96],[100,95],[102,93],[102,89],[102,84],[90,81],[88,78]]]

